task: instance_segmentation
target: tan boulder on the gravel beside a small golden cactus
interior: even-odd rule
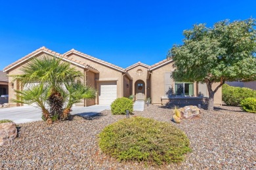
[[[196,106],[186,106],[179,109],[181,112],[181,118],[192,119],[200,118],[202,116],[202,111]]]

